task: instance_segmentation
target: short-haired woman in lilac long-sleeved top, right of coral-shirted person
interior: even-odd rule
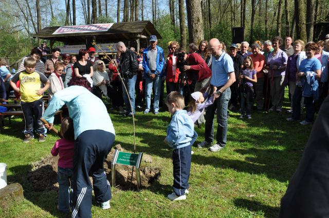
[[[280,49],[283,39],[276,36],[272,39],[274,50],[268,54],[267,66],[268,78],[270,79],[272,107],[268,111],[276,110],[281,112],[284,97],[284,76],[287,66],[288,56]]]

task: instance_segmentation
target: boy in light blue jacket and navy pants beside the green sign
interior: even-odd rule
[[[165,100],[169,112],[173,115],[167,127],[167,143],[173,150],[174,192],[168,194],[172,201],[185,200],[189,193],[189,177],[191,169],[191,147],[196,140],[194,123],[187,115],[184,97],[179,92],[170,92]]]

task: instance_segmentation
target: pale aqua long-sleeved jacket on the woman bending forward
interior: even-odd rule
[[[75,139],[87,130],[104,130],[115,134],[102,100],[82,86],[70,86],[56,92],[42,117],[48,123],[53,123],[55,112],[64,104],[73,120]]]

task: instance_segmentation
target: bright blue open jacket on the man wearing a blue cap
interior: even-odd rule
[[[162,76],[162,68],[165,64],[165,55],[163,54],[163,49],[159,46],[156,46],[157,49],[157,56],[156,56],[156,70],[154,74],[156,76]],[[149,68],[149,50],[151,50],[151,47],[147,47],[143,50],[143,69],[144,69],[144,78],[148,78],[151,75],[151,71]]]

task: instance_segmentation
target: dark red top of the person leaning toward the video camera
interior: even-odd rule
[[[197,82],[200,82],[205,78],[211,77],[211,69],[203,60],[202,56],[200,56],[198,53],[194,52],[192,54],[189,54],[187,60],[191,67],[191,69],[187,71],[188,80],[193,80],[194,73],[198,74]]]

